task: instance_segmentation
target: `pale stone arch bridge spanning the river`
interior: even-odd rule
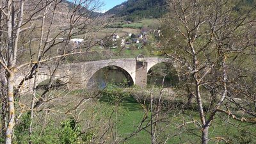
[[[172,60],[168,58],[142,58],[138,60],[137,58],[124,58],[124,59],[111,59],[111,60],[100,60],[100,61],[86,61],[81,63],[69,63],[60,65],[54,75],[52,75],[52,68],[42,65],[38,73],[38,81],[36,85],[50,79],[59,79],[64,83],[67,83],[68,88],[70,89],[79,89],[84,88],[90,78],[98,70],[108,66],[115,66],[125,70],[129,77],[131,77],[133,84],[141,87],[147,86],[147,72],[154,65],[158,63],[172,63],[173,67],[177,69],[177,65],[173,63]],[[179,73],[177,73],[179,74]],[[15,83],[18,84],[19,81],[24,77],[22,74],[17,74],[15,77]],[[33,88],[34,78],[29,79],[24,84],[26,89]]]

